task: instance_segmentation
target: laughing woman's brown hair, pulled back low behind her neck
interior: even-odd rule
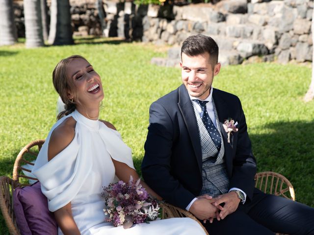
[[[76,101],[73,99],[69,99],[68,91],[74,88],[73,80],[68,78],[66,75],[66,70],[69,63],[75,59],[80,58],[87,61],[84,57],[80,55],[72,55],[68,58],[61,60],[52,72],[52,82],[55,90],[60,95],[62,102],[65,104],[65,110],[60,112],[57,116],[57,119],[67,116],[71,114],[76,108]]]

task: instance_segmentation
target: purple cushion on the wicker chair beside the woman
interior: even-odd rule
[[[47,197],[37,182],[24,188],[16,188],[13,208],[22,235],[57,235],[57,223],[48,210]]]

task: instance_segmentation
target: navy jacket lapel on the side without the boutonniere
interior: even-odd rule
[[[199,170],[200,172],[202,172],[201,141],[200,141],[198,126],[197,126],[197,121],[195,118],[195,114],[194,114],[190,97],[184,85],[181,85],[179,87],[178,106],[182,113],[184,123],[186,125],[188,134],[190,136],[190,139],[193,145],[193,150],[196,156]]]

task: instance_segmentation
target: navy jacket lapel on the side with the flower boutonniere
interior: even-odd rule
[[[229,169],[232,169],[231,166],[232,166],[233,147],[232,147],[231,143],[228,143],[228,134],[225,131],[223,124],[227,118],[231,117],[231,115],[229,114],[228,106],[227,106],[226,102],[224,101],[223,97],[221,95],[219,95],[215,91],[215,89],[213,89],[212,98],[213,98],[213,100],[215,102],[215,106],[216,106],[216,111],[217,111],[219,124],[220,124],[221,132],[222,132],[222,138],[224,141],[225,155],[226,155],[225,160],[226,160],[226,165],[227,165],[227,169],[228,169],[228,174],[230,176],[232,172]]]

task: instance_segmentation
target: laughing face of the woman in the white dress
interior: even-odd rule
[[[102,81],[93,67],[81,58],[73,59],[66,70],[71,91],[68,91],[69,99],[74,102],[88,105],[90,102],[98,104],[104,98]]]

